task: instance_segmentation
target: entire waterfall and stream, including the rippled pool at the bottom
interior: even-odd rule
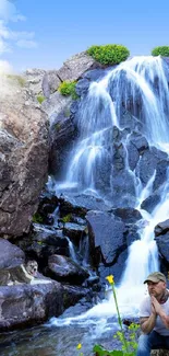
[[[90,84],[88,95],[80,108],[77,123],[80,137],[73,151],[70,152],[68,159],[70,164],[65,181],[60,186],[61,191],[63,187],[69,190],[75,186],[77,192],[89,190],[101,195],[101,188],[97,186],[97,172],[104,164],[105,171],[109,173],[107,191],[111,192],[112,128],[116,125],[122,129],[121,103],[125,108],[129,104],[132,106],[132,114],[140,124],[141,131],[149,146],[155,146],[167,154],[169,153],[168,73],[167,65],[160,57],[135,57],[109,71],[99,82]],[[142,113],[138,100],[142,102]],[[130,136],[124,145],[128,145],[129,141]],[[128,154],[125,161],[135,186],[135,208],[141,211],[145,225],[138,230],[141,240],[134,241],[129,249],[128,261],[120,284],[118,282],[117,294],[121,314],[136,317],[141,299],[146,292],[143,282],[147,274],[159,269],[154,228],[158,222],[169,218],[169,183],[164,183],[160,203],[150,215],[141,209],[141,204],[152,194],[156,171],[146,186],[143,186],[138,174],[129,169]],[[56,190],[59,190],[58,183]],[[110,294],[109,299],[102,300],[81,314],[52,318],[44,329],[41,328],[40,331],[36,329],[40,342],[33,336],[36,335],[35,330],[29,337],[32,343],[28,344],[28,336],[25,342],[25,348],[28,347],[29,352],[24,348],[24,353],[21,353],[21,346],[17,347],[14,342],[14,352],[9,348],[8,354],[4,348],[2,355],[35,355],[34,345],[36,355],[70,356],[75,355],[74,347],[77,343],[85,346],[84,355],[89,355],[95,342],[101,343],[105,338],[110,340],[110,334],[112,335],[117,328],[114,315],[116,308]],[[62,341],[63,334],[65,335],[64,341]],[[41,346],[44,345],[43,337],[46,340],[45,352]]]

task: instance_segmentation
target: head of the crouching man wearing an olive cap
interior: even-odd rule
[[[166,291],[166,277],[161,272],[152,273],[145,280],[147,284],[149,296],[160,299]]]

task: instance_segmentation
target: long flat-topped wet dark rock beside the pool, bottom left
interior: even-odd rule
[[[63,311],[63,289],[57,282],[0,287],[0,331],[43,323]]]

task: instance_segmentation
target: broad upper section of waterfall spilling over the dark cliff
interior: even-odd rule
[[[80,138],[69,157],[62,188],[111,191],[112,128],[122,128],[122,107],[130,106],[150,146],[168,149],[168,72],[160,57],[134,57],[90,84],[79,110]],[[98,184],[102,168],[107,172],[104,187]]]

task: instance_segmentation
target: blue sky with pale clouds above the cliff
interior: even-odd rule
[[[0,64],[59,69],[90,45],[122,44],[131,56],[169,45],[169,0],[0,0]]]

